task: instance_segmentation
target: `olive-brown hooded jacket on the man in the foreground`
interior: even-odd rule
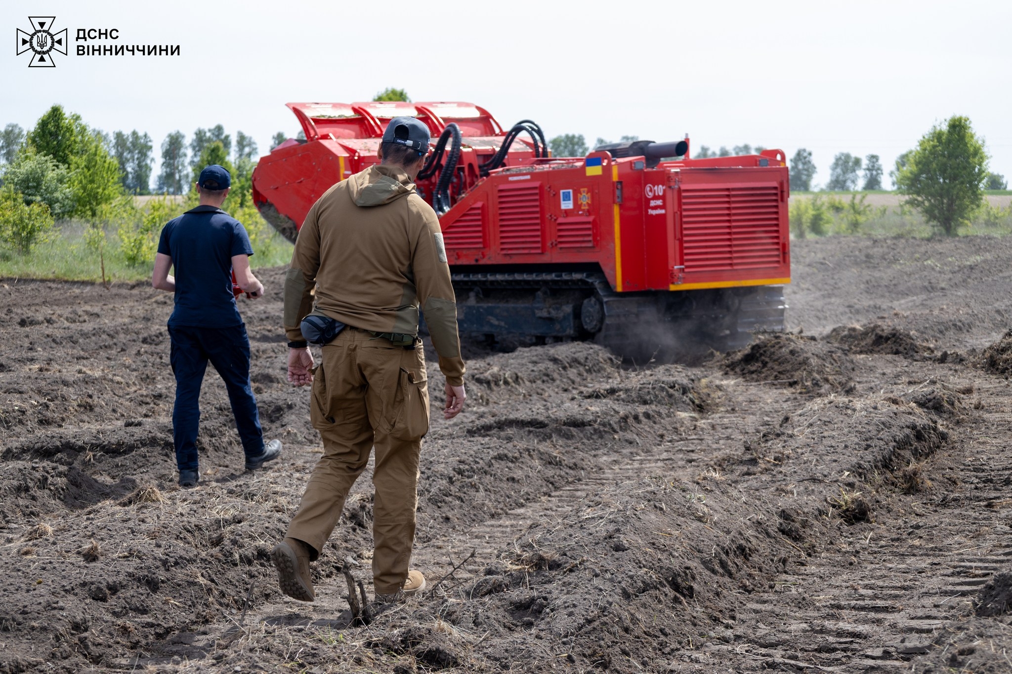
[[[447,383],[463,383],[456,299],[439,220],[401,169],[371,166],[331,187],[299,230],[284,279],[284,329],[316,309],[354,327],[418,333],[418,308]]]

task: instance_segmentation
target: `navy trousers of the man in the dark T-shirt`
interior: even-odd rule
[[[172,440],[179,470],[196,470],[196,436],[200,425],[200,384],[207,361],[225,380],[236,428],[246,456],[263,454],[263,430],[250,385],[250,341],[245,325],[190,327],[169,325],[170,362],[176,375]]]

